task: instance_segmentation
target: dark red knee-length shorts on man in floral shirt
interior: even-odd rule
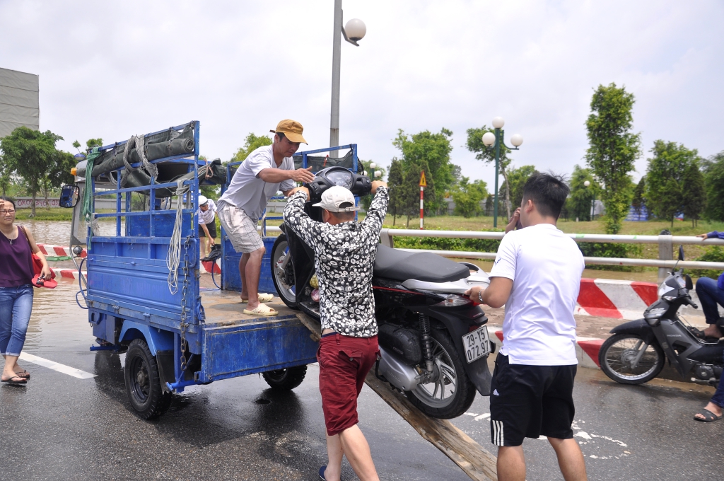
[[[352,338],[335,333],[319,341],[319,392],[328,435],[337,435],[357,424],[357,396],[377,354],[376,335]]]

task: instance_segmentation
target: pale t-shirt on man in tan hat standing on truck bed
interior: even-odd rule
[[[266,203],[277,191],[288,191],[295,188],[295,183],[291,179],[271,184],[258,177],[259,172],[270,168],[294,170],[294,160],[291,157],[285,157],[282,165],[277,167],[277,163],[274,162],[274,154],[271,152],[271,146],[259,147],[241,163],[234,177],[232,177],[229,188],[219,198],[219,202],[223,201],[242,209],[246,215],[256,222],[264,213]]]

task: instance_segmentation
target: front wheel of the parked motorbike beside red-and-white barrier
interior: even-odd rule
[[[644,343],[636,334],[616,334],[605,340],[598,361],[605,374],[621,384],[643,384],[664,368],[664,352],[658,344]]]

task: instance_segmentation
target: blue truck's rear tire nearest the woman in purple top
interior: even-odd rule
[[[141,419],[159,417],[171,406],[174,395],[161,390],[159,366],[146,340],[134,339],[129,344],[124,377],[128,401]]]

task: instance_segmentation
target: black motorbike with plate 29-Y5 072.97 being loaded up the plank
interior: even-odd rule
[[[344,167],[328,167],[305,186],[304,211],[321,222],[321,194],[342,185],[355,196],[371,191],[369,177]],[[271,277],[282,301],[319,320],[314,253],[287,225],[271,251]],[[379,245],[372,288],[379,327],[380,356],[375,374],[405,393],[430,417],[452,419],[468,410],[476,391],[489,396],[487,317],[463,293],[489,284],[479,267],[426,252]]]

